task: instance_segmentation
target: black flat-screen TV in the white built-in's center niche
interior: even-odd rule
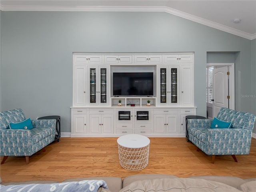
[[[153,72],[114,72],[113,96],[153,96]]]

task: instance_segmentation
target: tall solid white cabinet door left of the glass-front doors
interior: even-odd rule
[[[86,66],[74,66],[73,104],[86,105]]]

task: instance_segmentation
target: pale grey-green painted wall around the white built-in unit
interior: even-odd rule
[[[1,30],[1,111],[60,115],[62,132],[71,127],[72,52],[195,52],[194,98],[202,116],[207,52],[239,53],[236,87],[252,89],[252,41],[164,12],[1,11]],[[238,92],[236,98],[237,110],[256,113],[251,100]]]

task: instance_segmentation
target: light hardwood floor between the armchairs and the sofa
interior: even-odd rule
[[[256,139],[249,155],[211,156],[187,142],[186,138],[150,138],[148,166],[128,171],[118,161],[117,138],[60,138],[29,158],[8,157],[1,165],[3,182],[57,180],[90,176],[126,177],[133,174],[172,174],[178,177],[199,175],[256,177]],[[3,157],[1,157],[2,160]]]

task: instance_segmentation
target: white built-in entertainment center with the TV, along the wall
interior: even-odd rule
[[[71,137],[185,137],[195,114],[193,52],[73,53]]]

